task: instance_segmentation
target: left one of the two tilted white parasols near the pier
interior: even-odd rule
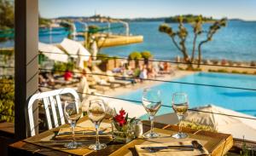
[[[67,54],[65,54],[61,49],[58,49],[55,45],[38,43],[38,49],[39,51],[43,52],[43,54],[48,57],[49,60],[62,62],[68,61]]]

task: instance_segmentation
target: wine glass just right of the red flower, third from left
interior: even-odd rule
[[[143,90],[143,107],[147,111],[149,115],[149,120],[151,122],[151,129],[150,132],[144,134],[143,137],[145,138],[156,138],[160,135],[153,131],[154,127],[154,115],[160,109],[161,106],[161,99],[160,99],[160,90],[155,89],[144,89]]]

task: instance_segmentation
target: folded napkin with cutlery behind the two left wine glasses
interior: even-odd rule
[[[111,128],[100,128],[99,136],[101,138],[111,138]],[[90,139],[96,137],[96,131],[94,127],[75,127],[75,139]],[[61,128],[58,134],[55,136],[56,140],[70,140],[72,139],[72,129],[69,128]]]

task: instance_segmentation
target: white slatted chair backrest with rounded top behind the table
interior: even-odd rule
[[[43,100],[45,116],[47,119],[47,125],[48,125],[48,129],[50,130],[53,128],[53,126],[58,127],[60,124],[65,124],[65,118],[64,118],[62,107],[61,107],[60,95],[67,95],[67,94],[73,95],[74,99],[79,99],[78,93],[71,88],[46,91],[46,92],[42,92],[42,93],[37,93],[30,97],[30,99],[27,103],[27,113],[28,113],[28,120],[29,120],[31,136],[35,136],[35,124],[34,124],[34,118],[33,118],[33,113],[32,113],[32,106],[35,103],[35,101]],[[52,113],[53,124],[51,122],[49,106],[51,108],[50,110]],[[57,113],[55,106],[57,106],[58,113]],[[59,124],[57,115],[59,115],[60,124]]]

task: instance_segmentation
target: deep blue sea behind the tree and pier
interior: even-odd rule
[[[116,56],[127,56],[132,51],[148,50],[154,54],[154,59],[172,60],[181,53],[174,47],[171,38],[166,34],[160,33],[158,27],[162,22],[130,22],[131,34],[143,35],[143,43],[135,43],[114,48],[101,49],[102,53]],[[90,25],[90,23],[88,23]],[[107,24],[99,24],[107,27]],[[112,24],[115,26],[117,24]],[[175,29],[176,23],[171,23]],[[84,29],[79,23],[76,23],[79,29]],[[185,25],[192,32],[189,24]],[[205,24],[204,29],[210,24]],[[112,30],[115,33],[125,33],[125,28]],[[44,43],[61,43],[62,39],[67,37],[66,32],[53,31],[51,36],[49,33],[40,34],[39,40]],[[82,40],[83,38],[77,38]],[[203,39],[200,38],[199,41]],[[205,44],[202,48],[203,57],[209,59],[228,59],[235,61],[256,61],[256,21],[229,20],[228,25],[218,31],[212,38],[213,40]],[[1,47],[13,46],[13,41],[0,43]],[[187,40],[189,51],[192,46],[192,36]]]

